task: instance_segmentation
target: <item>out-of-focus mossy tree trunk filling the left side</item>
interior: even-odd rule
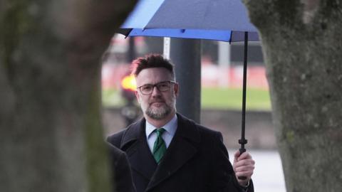
[[[0,0],[0,191],[109,191],[100,57],[135,1]]]

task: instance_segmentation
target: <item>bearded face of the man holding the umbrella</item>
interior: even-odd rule
[[[142,85],[155,85],[158,82],[173,80],[170,72],[165,68],[147,68],[140,71],[136,77],[137,87]],[[176,109],[176,97],[178,95],[177,83],[170,84],[170,90],[161,92],[157,87],[153,87],[149,95],[144,95],[138,89],[135,96],[140,103],[140,107],[145,117],[151,119],[164,119],[170,114],[174,114]]]

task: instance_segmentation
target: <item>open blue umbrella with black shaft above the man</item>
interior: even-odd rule
[[[259,36],[249,22],[241,0],[140,0],[118,32],[125,36],[244,41],[242,137],[239,144],[240,152],[246,151],[247,45],[248,41],[259,41]]]

